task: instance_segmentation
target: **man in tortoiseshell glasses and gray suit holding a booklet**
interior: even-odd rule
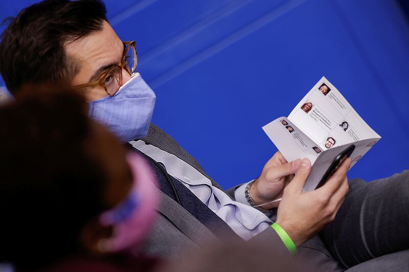
[[[149,123],[155,95],[134,73],[137,63],[135,43],[117,36],[99,0],[35,4],[11,21],[0,43],[0,71],[11,92],[32,84],[71,86],[89,102],[89,115],[152,167],[161,207],[144,253],[172,257],[210,239],[255,238],[271,244],[272,254],[298,248],[305,260],[337,271],[409,247],[409,214],[399,208],[409,206],[409,172],[370,184],[350,181],[346,194],[347,159],[324,186],[305,193],[310,162],[287,162],[277,153],[257,180],[226,192],[169,135]],[[281,196],[281,203],[272,202]],[[369,212],[375,208],[381,210]],[[391,216],[384,220],[377,214]],[[381,223],[384,228],[372,227]],[[390,226],[399,231],[389,235]],[[331,253],[314,236],[321,229]]]

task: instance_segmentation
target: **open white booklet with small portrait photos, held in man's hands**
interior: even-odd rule
[[[263,130],[287,161],[311,161],[304,191],[316,188],[336,155],[351,143],[355,145],[352,167],[381,138],[325,77],[288,117],[277,118]]]

